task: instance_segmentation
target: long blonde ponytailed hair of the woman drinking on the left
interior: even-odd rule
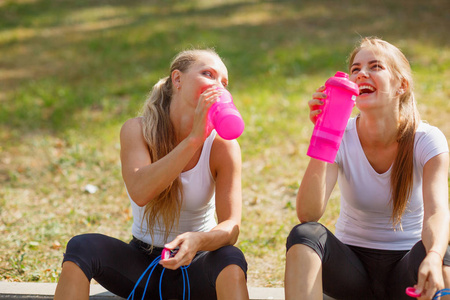
[[[186,50],[180,52],[172,60],[170,73],[179,70],[186,72],[197,61],[199,54],[217,55],[212,49]],[[218,56],[218,55],[217,55]],[[150,92],[141,111],[143,135],[147,142],[152,163],[161,159],[177,145],[176,133],[170,120],[170,104],[172,102],[173,84],[170,76],[160,79]],[[183,201],[183,190],[180,177],[177,177],[156,198],[145,205],[144,218],[148,233],[154,240],[154,227],[164,227],[164,240],[175,227],[178,227],[180,210]]]

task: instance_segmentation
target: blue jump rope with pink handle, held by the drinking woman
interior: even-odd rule
[[[134,294],[136,291],[136,288],[138,287],[139,283],[141,282],[141,280],[144,278],[145,274],[150,271],[150,273],[148,274],[148,278],[147,278],[147,282],[145,284],[145,289],[144,289],[144,293],[142,294],[142,298],[141,300],[144,300],[145,297],[145,293],[147,292],[147,287],[148,287],[148,283],[150,282],[150,277],[152,276],[153,271],[155,270],[156,266],[158,265],[159,261],[161,259],[166,259],[169,257],[173,257],[175,256],[176,251],[171,251],[167,248],[164,248],[163,251],[161,252],[161,255],[157,256],[151,263],[150,265],[147,267],[147,269],[142,273],[141,277],[139,277],[138,281],[136,282],[136,284],[134,285],[133,290],[131,291],[130,295],[128,296],[127,300],[134,300]],[[189,285],[189,276],[188,276],[188,272],[187,272],[187,268],[189,268],[190,264],[188,266],[181,266],[181,274],[183,276],[183,300],[185,300],[185,295],[186,295],[186,285],[187,285],[187,299],[190,300],[191,299],[191,289],[190,289],[190,285]],[[159,299],[162,300],[162,278],[164,275],[164,271],[166,270],[166,268],[163,268],[162,272],[161,272],[161,276],[159,277]],[[186,284],[187,282],[187,284]]]

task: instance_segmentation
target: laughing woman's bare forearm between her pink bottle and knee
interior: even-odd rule
[[[297,193],[297,216],[301,223],[317,222],[336,185],[338,165],[311,158]]]

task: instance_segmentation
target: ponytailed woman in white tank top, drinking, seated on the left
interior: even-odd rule
[[[208,110],[221,93],[217,87],[227,85],[227,68],[214,51],[175,57],[142,115],[120,132],[133,239],[73,237],[55,299],[88,299],[92,278],[127,298],[164,248],[177,252],[160,261],[148,287],[147,273],[136,298],[184,299],[187,291],[191,299],[248,299],[247,263],[233,246],[241,222],[240,148],[207,126]]]

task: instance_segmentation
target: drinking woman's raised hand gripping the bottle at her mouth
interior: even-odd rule
[[[194,124],[192,126],[191,135],[202,137],[202,141],[209,136],[213,128],[207,126],[208,111],[211,106],[219,100],[221,94],[221,89],[217,89],[217,87],[212,86],[200,95],[197,107],[195,109]]]

